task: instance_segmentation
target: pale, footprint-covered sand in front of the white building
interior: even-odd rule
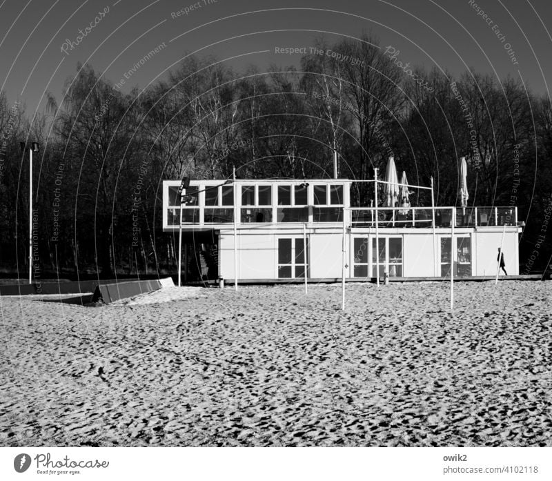
[[[1,297],[1,446],[552,446],[550,282]]]

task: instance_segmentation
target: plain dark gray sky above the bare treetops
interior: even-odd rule
[[[239,56],[228,60],[238,69],[299,66],[300,54],[278,55],[275,47],[308,48],[320,35],[333,42],[363,31],[400,50],[405,63],[453,75],[473,67],[521,77],[540,94],[552,90],[551,0],[0,0],[0,88],[30,114],[43,108],[46,90],[61,101],[79,61],[115,83],[165,43],[126,80],[128,92],[164,77],[190,52]]]

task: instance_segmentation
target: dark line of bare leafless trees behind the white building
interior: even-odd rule
[[[411,183],[435,179],[437,205],[460,203],[466,156],[469,203],[518,206],[527,224],[520,271],[537,244],[531,271],[542,270],[551,255],[549,99],[519,79],[404,68],[375,43],[366,36],[320,40],[322,55],[305,55],[299,71],[236,72],[190,57],[129,95],[78,66],[63,98],[50,97],[32,118],[0,93],[1,268],[28,269],[28,154],[19,148],[28,140],[41,146],[32,175],[45,273],[172,273],[175,243],[161,226],[163,179],[228,178],[233,168],[239,178],[331,177],[334,151],[339,177],[351,179],[372,178],[394,155]],[[372,194],[353,195],[369,204]]]

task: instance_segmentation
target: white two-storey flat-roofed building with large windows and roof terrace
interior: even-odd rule
[[[351,206],[356,183],[193,180],[181,204],[181,181],[168,180],[163,227],[215,239],[216,277],[230,283],[448,278],[451,266],[454,277],[494,277],[500,246],[519,274],[515,206]]]

